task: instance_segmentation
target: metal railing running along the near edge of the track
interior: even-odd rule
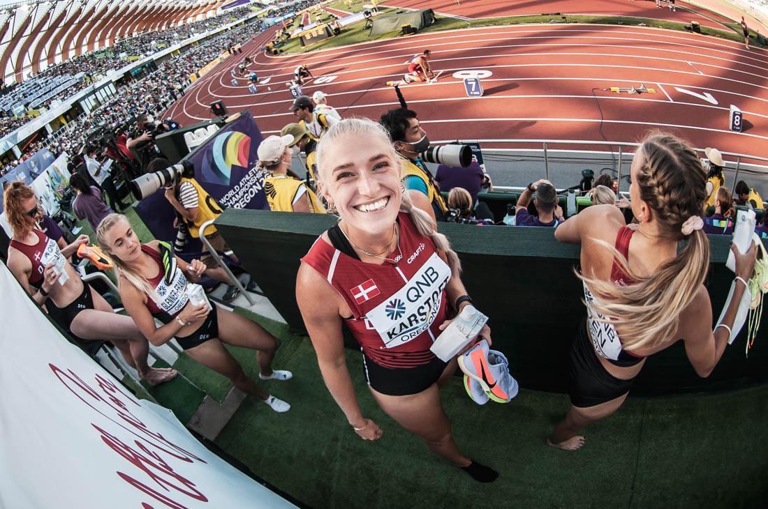
[[[442,143],[456,143],[456,140],[440,140],[432,142],[435,144],[442,144]],[[507,140],[507,139],[485,139],[485,140],[458,140],[458,143],[495,143],[495,144],[503,144],[503,145],[528,145],[525,147],[520,148],[493,148],[488,149],[485,147],[485,150],[488,151],[536,151],[541,150],[543,157],[544,157],[544,171],[545,171],[545,179],[550,180],[550,152],[552,151],[551,145],[568,145],[568,146],[611,146],[611,147],[617,147],[617,157],[614,159],[614,162],[616,164],[616,172],[617,172],[617,182],[619,185],[619,190],[621,191],[621,169],[622,169],[622,162],[624,157],[624,149],[627,147],[630,147],[632,150],[627,151],[627,155],[633,154],[634,155],[634,149],[637,149],[638,146],[641,146],[641,143],[630,143],[630,142],[618,142],[618,141],[592,141],[592,140],[541,140],[541,139],[531,139],[531,140]],[[531,148],[531,145],[540,145],[541,149],[538,148]],[[701,156],[706,156],[704,154],[704,149],[694,148],[696,152]],[[578,152],[578,150],[573,150],[572,152]],[[594,153],[594,151],[591,151]],[[604,152],[604,155],[608,156],[614,156],[614,152],[611,150],[611,152]],[[731,188],[731,191],[733,192],[733,188],[736,187],[736,182],[738,181],[739,172],[743,169],[743,166],[755,166],[757,168],[757,172],[763,173],[766,176],[768,176],[768,157],[763,156],[753,156],[750,154],[742,154],[742,153],[735,153],[735,152],[726,152],[723,150],[720,150],[720,154],[723,156],[723,163],[725,165],[723,166],[723,169],[731,169],[735,171],[736,175],[733,178],[733,186]],[[732,160],[727,160],[726,158],[730,157]],[[733,160],[735,158],[735,160]],[[743,160],[746,159],[748,161],[760,161],[761,163],[766,163],[765,165],[755,164],[755,163],[743,163]],[[506,188],[504,186],[494,186],[494,189],[499,190],[514,190],[515,188],[509,187]]]

